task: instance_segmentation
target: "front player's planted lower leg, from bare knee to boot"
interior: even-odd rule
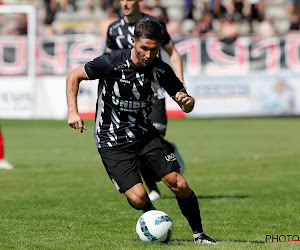
[[[179,170],[178,170],[179,171]],[[182,214],[186,217],[192,231],[195,242],[205,244],[217,244],[218,242],[203,232],[200,208],[197,197],[188,186],[186,180],[178,172],[165,175],[162,181],[176,195],[177,203]]]

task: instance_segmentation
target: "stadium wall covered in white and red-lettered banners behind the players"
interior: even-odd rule
[[[233,44],[217,38],[179,39],[188,92],[196,98],[191,114],[167,99],[169,117],[282,116],[300,114],[300,35]],[[99,56],[105,41],[96,36],[57,36],[36,42],[32,95],[26,37],[0,39],[0,117],[65,119],[65,77]],[[163,55],[164,56],[164,55]],[[93,118],[97,81],[83,82],[78,96],[85,118]]]

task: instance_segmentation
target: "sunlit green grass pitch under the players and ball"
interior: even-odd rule
[[[185,160],[205,232],[218,246],[192,242],[174,195],[159,183],[157,209],[174,223],[171,242],[144,245],[141,212],[110,182],[93,139],[66,121],[2,120],[6,158],[0,170],[0,249],[300,249],[266,235],[300,236],[300,121],[169,120],[167,139]]]

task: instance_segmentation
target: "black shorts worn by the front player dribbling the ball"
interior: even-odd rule
[[[98,151],[106,172],[120,193],[142,183],[137,159],[145,168],[149,168],[156,181],[180,168],[172,149],[156,130],[146,133],[139,141],[99,148]]]

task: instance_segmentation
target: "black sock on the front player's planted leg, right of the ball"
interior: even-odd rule
[[[186,217],[194,234],[203,232],[201,215],[197,197],[193,192],[190,198],[176,197],[182,214]]]

